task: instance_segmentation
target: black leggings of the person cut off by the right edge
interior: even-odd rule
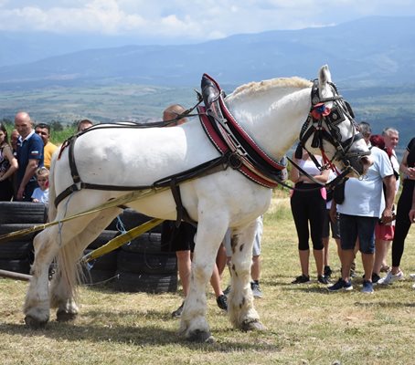
[[[412,206],[412,194],[415,181],[405,179],[403,181],[402,193],[397,206],[397,218],[395,224],[395,235],[392,242],[392,266],[398,267],[403,255],[405,238],[410,231],[410,207]]]

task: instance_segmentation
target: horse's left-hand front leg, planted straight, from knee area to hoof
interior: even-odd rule
[[[217,218],[214,221],[204,219],[197,225],[189,293],[180,322],[181,333],[192,341],[213,340],[206,319],[206,287],[212,276],[218,248],[228,228],[227,225],[223,221],[219,222]]]

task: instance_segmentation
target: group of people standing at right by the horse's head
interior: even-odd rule
[[[353,289],[352,277],[356,275],[358,251],[364,270],[363,293],[371,294],[374,285],[392,284],[404,277],[399,265],[405,238],[413,223],[415,138],[410,141],[399,164],[395,151],[399,142],[398,130],[387,128],[382,135],[372,135],[367,122],[361,122],[359,130],[371,151],[373,164],[363,178],[346,179],[335,187],[334,192],[327,192],[320,183],[326,183],[335,176],[330,177],[328,170],[317,169],[307,151],[300,148],[293,154],[290,180],[295,185],[291,207],[302,270],[293,284],[311,282],[310,235],[317,281],[330,284],[327,289],[331,292]],[[399,171],[403,174],[403,183],[395,214]],[[329,226],[341,263],[341,277],[335,283],[330,283],[333,270],[328,258]],[[387,264],[390,245],[391,267]],[[381,273],[386,273],[386,276],[381,277]]]

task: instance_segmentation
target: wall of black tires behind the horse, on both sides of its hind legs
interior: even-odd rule
[[[144,224],[151,218],[125,209],[101,235],[88,245],[84,254],[105,245],[122,232]],[[43,203],[0,202],[0,235],[10,234],[47,222]],[[38,232],[0,243],[0,269],[29,274],[33,264],[33,238]],[[53,270],[53,264],[51,266]],[[175,253],[161,250],[161,226],[133,239],[85,266],[85,284],[109,283],[119,291],[163,293],[177,290]]]

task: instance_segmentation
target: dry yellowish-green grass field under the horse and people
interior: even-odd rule
[[[264,297],[255,300],[265,332],[244,333],[229,325],[208,287],[208,321],[217,339],[194,344],[177,336],[170,313],[180,293],[149,295],[82,287],[75,323],[30,330],[21,308],[27,283],[0,279],[0,362],[10,364],[411,364],[414,363],[415,230],[406,241],[405,280],[360,293],[362,266],[356,260],[355,290],[328,293],[317,283],[293,286],[300,274],[288,193],[279,193],[265,215],[262,240]],[[335,242],[331,266],[338,275]],[[311,273],[315,278],[314,262]],[[224,277],[223,286],[229,276]]]

